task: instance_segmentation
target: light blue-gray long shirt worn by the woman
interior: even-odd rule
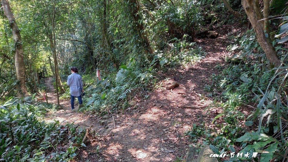
[[[70,94],[72,96],[80,96],[83,90],[82,78],[77,73],[72,73],[68,76],[67,85],[70,86]]]

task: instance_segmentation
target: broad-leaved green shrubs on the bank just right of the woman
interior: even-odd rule
[[[127,101],[137,90],[144,90],[153,79],[149,71],[136,70],[130,64],[129,67],[121,66],[116,74],[110,75],[105,79],[98,81],[97,84],[90,86],[87,90],[91,98],[85,98],[86,106],[82,110],[105,113],[110,110],[127,108]],[[126,103],[126,104],[125,104]]]

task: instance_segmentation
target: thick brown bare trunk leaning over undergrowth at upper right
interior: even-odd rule
[[[266,54],[266,57],[270,61],[270,64],[275,66],[280,66],[281,61],[279,60],[276,51],[274,50],[272,44],[265,37],[263,30],[263,25],[258,21],[260,17],[257,16],[256,11],[258,8],[253,7],[252,0],[242,0],[242,6],[256,32],[257,40]]]

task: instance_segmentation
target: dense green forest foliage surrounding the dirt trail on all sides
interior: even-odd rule
[[[10,0],[22,36],[25,69],[21,70],[32,98],[15,98],[16,44],[1,10],[0,161],[69,161],[76,156],[76,146],[85,146],[82,129],[58,121],[45,123],[44,114],[54,107],[36,103],[32,95],[46,91],[41,78],[54,76],[56,85],[54,49],[63,85],[71,66],[82,76],[87,97],[80,111],[104,115],[125,110],[137,97],[148,99],[148,91],[158,81],[157,72],[204,58],[205,52],[195,43],[197,36],[224,24],[241,29],[238,35],[228,34],[232,43],[227,50],[234,56],[226,58],[227,66],[215,67],[222,73],[212,74],[211,84],[204,87],[214,106],[223,109],[211,123],[219,129],[194,124],[186,135],[192,142],[201,137],[215,153],[240,148],[241,152],[269,152],[258,156],[260,161],[282,160],[288,147],[286,1],[271,1],[272,32],[265,33],[272,35],[268,42],[282,67],[271,65],[254,30],[243,25],[247,17],[241,1],[228,2],[240,19],[215,0]],[[70,98],[69,87],[65,91],[60,99]],[[243,160],[256,158],[229,161]]]

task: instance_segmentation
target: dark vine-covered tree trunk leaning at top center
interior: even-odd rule
[[[134,19],[134,23],[136,23],[136,29],[137,32],[140,36],[140,39],[142,41],[142,44],[144,46],[144,51],[146,54],[146,57],[149,61],[152,61],[153,57],[152,54],[154,53],[152,46],[150,45],[150,40],[148,38],[147,33],[145,32],[145,28],[143,26],[143,23],[140,23],[140,15],[139,15],[139,9],[140,9],[140,5],[138,0],[129,0],[130,6],[132,7],[132,17]]]

